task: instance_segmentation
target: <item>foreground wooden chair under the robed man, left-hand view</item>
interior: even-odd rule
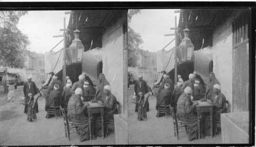
[[[71,133],[77,133],[79,134],[79,130],[78,130],[78,127],[76,125],[74,125],[72,122],[69,122],[68,120],[68,116],[67,116],[67,111],[62,108],[61,106],[59,107],[60,108],[60,111],[62,113],[62,116],[63,116],[63,122],[64,122],[64,127],[65,127],[65,136],[67,138],[69,138],[69,141],[70,141],[70,134]]]

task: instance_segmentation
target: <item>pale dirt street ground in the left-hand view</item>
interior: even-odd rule
[[[80,142],[76,133],[71,134],[71,141],[65,137],[63,118],[52,117],[46,119],[45,98],[38,99],[39,112],[37,120],[28,122],[24,113],[23,102],[19,96],[24,96],[23,86],[15,90],[14,102],[8,103],[7,94],[4,94],[3,86],[0,86],[0,145],[96,145],[115,144],[114,130],[110,130],[109,136],[102,139]]]

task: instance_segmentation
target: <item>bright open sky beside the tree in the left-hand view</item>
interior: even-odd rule
[[[69,23],[70,14],[67,11],[29,11],[27,15],[20,17],[18,28],[23,34],[29,37],[28,49],[36,53],[50,51],[58,44],[63,37],[53,38],[56,35],[63,35],[63,18],[66,17],[66,27]],[[61,42],[53,51],[63,48]]]

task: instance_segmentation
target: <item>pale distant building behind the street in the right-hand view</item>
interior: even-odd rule
[[[142,75],[143,79],[147,82],[156,81],[158,78],[156,53],[148,50],[141,50],[137,61],[137,67],[129,67],[128,71],[132,74],[137,74],[135,75],[136,78],[138,75]]]

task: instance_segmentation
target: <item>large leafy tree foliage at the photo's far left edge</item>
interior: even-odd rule
[[[17,28],[19,18],[27,11],[0,12],[0,65],[24,68],[29,45],[28,37]]]

